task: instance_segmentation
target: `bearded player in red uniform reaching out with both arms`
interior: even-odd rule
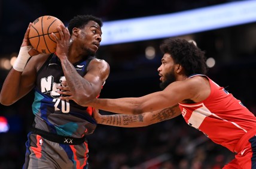
[[[256,117],[231,93],[205,76],[205,52],[182,39],[166,39],[160,49],[164,54],[158,68],[162,91],[139,98],[95,99],[88,104],[80,96],[72,95],[71,89],[60,91],[70,95],[61,99],[121,114],[101,119],[99,114],[95,115],[98,123],[112,126],[147,126],[182,115],[188,125],[234,152],[235,159],[225,169],[256,168]]]

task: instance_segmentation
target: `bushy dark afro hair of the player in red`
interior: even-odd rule
[[[163,54],[170,54],[175,64],[181,64],[185,69],[185,75],[206,74],[205,52],[201,51],[193,42],[185,39],[168,38],[160,45]]]

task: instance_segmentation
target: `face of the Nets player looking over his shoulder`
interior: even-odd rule
[[[95,21],[89,21],[89,23],[81,29],[80,32],[80,40],[82,40],[81,44],[82,48],[86,50],[89,54],[95,55],[97,49],[99,49],[100,41],[101,41],[101,28],[99,24]]]

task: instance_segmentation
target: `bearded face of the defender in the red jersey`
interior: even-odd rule
[[[163,58],[161,59],[161,65],[157,69],[159,71],[160,76],[160,88],[165,89],[170,83],[176,81],[175,77],[175,63],[170,57],[170,54],[164,54]]]

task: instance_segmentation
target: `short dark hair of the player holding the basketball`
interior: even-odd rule
[[[83,29],[89,21],[95,21],[100,27],[103,25],[102,20],[93,15],[77,15],[69,21],[68,30],[70,35],[72,35],[74,27]]]

